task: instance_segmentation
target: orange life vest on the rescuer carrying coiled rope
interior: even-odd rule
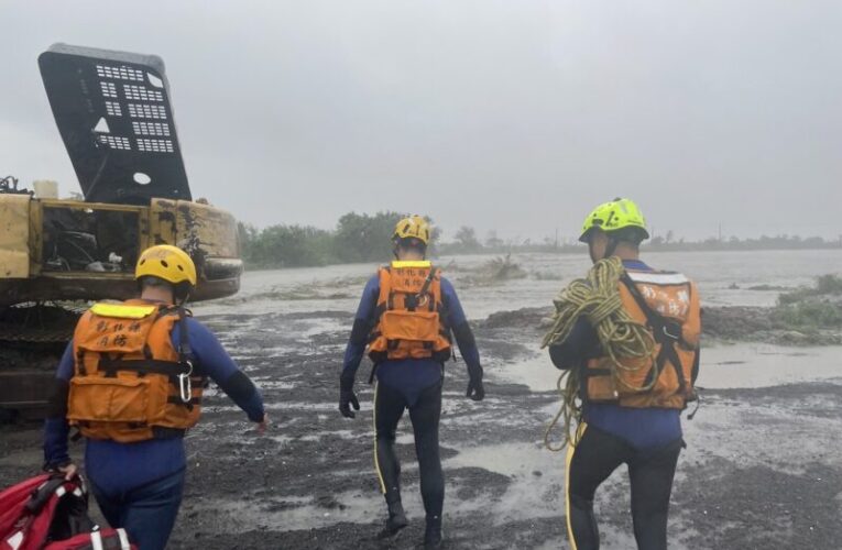
[[[621,359],[622,366],[613,370],[608,358],[589,360],[583,381],[587,399],[624,407],[685,408],[696,399],[699,370],[701,309],[696,284],[680,273],[627,270],[619,286],[625,310],[652,330],[655,353]]]

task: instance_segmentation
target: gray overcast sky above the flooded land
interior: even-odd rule
[[[50,44],[161,55],[194,196],[258,226],[842,233],[842,2],[0,0],[0,172],[78,189]]]

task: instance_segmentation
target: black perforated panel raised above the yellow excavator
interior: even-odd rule
[[[56,44],[39,66],[86,200],[190,199],[160,57]]]

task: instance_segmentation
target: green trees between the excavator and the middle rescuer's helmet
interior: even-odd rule
[[[392,256],[391,239],[395,224],[406,215],[350,212],[336,229],[311,226],[270,226],[258,229],[239,223],[243,262],[252,268],[306,267],[359,262],[384,262]],[[433,250],[437,232],[433,232]]]

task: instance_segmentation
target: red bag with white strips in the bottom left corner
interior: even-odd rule
[[[123,529],[88,517],[88,491],[77,475],[43,474],[0,493],[0,550],[136,550]]]

